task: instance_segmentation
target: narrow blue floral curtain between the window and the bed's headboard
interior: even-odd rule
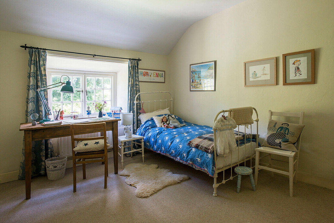
[[[138,64],[137,60],[129,60],[129,82],[128,82],[128,112],[133,113],[133,133],[136,134],[137,126],[139,126],[138,118],[136,120],[135,106],[137,106],[137,117],[140,115],[140,103],[135,105],[135,97],[139,91],[139,77],[138,77]],[[137,99],[140,101],[140,96]]]

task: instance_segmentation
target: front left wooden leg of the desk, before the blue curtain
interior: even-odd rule
[[[25,199],[31,194],[31,130],[24,131]]]

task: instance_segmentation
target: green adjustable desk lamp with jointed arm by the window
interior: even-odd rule
[[[44,119],[40,120],[39,123],[51,121],[51,119],[48,116],[52,115],[52,109],[50,109],[49,104],[46,102],[46,99],[44,97],[43,91],[47,91],[47,90],[49,90],[51,88],[56,88],[56,87],[62,86],[61,89],[60,89],[60,92],[62,92],[62,93],[69,93],[69,94],[73,94],[74,93],[73,87],[71,86],[71,82],[69,81],[69,77],[68,77],[68,81],[66,81],[66,83],[61,82],[61,78],[63,76],[68,77],[67,75],[62,75],[60,77],[60,82],[55,83],[55,84],[51,84],[51,85],[48,85],[48,86],[45,86],[43,88],[37,88],[37,89],[35,89],[35,91],[38,93],[39,97],[41,98],[43,107],[44,107],[44,109],[46,111],[46,114],[44,116],[45,118],[43,117]],[[53,85],[57,85],[57,86],[53,86]],[[50,87],[50,86],[53,86],[53,87]]]

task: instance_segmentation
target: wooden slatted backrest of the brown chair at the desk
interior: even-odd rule
[[[83,140],[97,140],[104,139],[104,147],[107,149],[107,128],[105,122],[92,123],[92,124],[71,124],[71,140],[72,140],[72,150],[75,147],[74,141]],[[101,136],[98,137],[87,137],[87,138],[75,138],[75,135],[81,135],[86,133],[101,132]]]

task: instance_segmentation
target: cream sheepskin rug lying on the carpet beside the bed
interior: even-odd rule
[[[170,170],[159,169],[157,164],[130,163],[119,174],[127,176],[125,183],[137,188],[136,196],[145,198],[164,187],[188,180],[187,175],[173,174]]]

